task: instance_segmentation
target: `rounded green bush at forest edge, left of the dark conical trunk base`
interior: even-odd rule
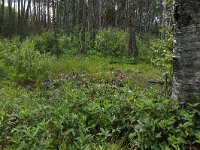
[[[127,55],[128,33],[124,30],[103,29],[96,36],[95,49],[105,55]]]

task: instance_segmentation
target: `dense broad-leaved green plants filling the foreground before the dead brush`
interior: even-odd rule
[[[27,92],[0,90],[0,144],[5,149],[198,148],[199,103],[157,99],[152,90],[82,82]],[[13,102],[13,99],[15,100]]]

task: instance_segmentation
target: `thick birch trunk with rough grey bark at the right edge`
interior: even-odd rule
[[[200,95],[200,0],[174,0],[173,93],[190,101]]]

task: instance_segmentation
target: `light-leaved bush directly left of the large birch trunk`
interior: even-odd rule
[[[173,36],[170,28],[165,30],[165,40],[137,38],[137,43],[140,56],[145,62],[169,71],[172,65]]]

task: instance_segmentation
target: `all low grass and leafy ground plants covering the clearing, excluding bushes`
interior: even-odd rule
[[[195,118],[200,105],[180,105],[163,95],[163,86],[149,84],[149,79],[162,78],[158,67],[121,59],[63,56],[48,64],[51,76],[34,88],[3,81],[0,146],[6,150],[198,148]]]

